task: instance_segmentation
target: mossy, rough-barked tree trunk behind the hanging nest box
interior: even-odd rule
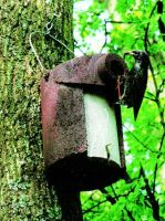
[[[43,175],[39,88],[41,69],[72,56],[48,35],[73,49],[72,1],[1,0],[0,9],[0,220],[61,220]]]

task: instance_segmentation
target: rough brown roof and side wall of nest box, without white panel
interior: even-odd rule
[[[41,107],[47,168],[60,159],[86,151],[83,93],[103,90],[110,104],[114,104],[118,98],[116,77],[124,76],[126,72],[126,64],[118,55],[97,54],[60,64],[48,77],[42,78]],[[118,125],[120,147],[123,148],[121,123]],[[123,150],[120,151],[123,155]],[[121,159],[122,165],[125,165],[123,156]]]

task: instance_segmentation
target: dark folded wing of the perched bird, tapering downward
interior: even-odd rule
[[[134,109],[134,118],[136,120],[138,110],[144,97],[145,88],[146,88],[147,78],[135,76],[133,83],[133,109]]]

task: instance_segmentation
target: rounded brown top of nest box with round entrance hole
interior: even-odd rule
[[[127,72],[117,54],[81,56],[58,65],[50,76],[58,83],[110,85],[116,75]]]

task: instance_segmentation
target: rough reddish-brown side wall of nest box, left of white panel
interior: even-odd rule
[[[44,81],[44,80],[43,80]],[[42,82],[42,127],[45,166],[86,150],[83,92]]]

